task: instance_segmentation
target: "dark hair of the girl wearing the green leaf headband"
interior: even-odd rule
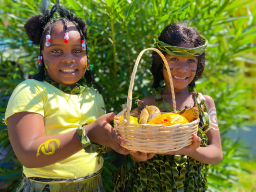
[[[179,46],[182,43],[190,43],[195,48],[204,45],[202,37],[199,35],[197,30],[192,27],[188,27],[185,24],[172,23],[166,26],[158,37],[159,41],[165,42],[172,46]],[[166,52],[160,50],[163,55],[167,55]],[[195,72],[195,77],[192,82],[188,85],[189,89],[195,87],[195,81],[200,78],[205,68],[205,53],[197,56],[198,63]],[[153,88],[160,87],[160,81],[164,80],[162,66],[163,60],[158,53],[153,52],[151,58],[152,64],[150,71],[153,74],[154,82]]]

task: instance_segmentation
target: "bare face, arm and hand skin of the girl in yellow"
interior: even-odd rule
[[[44,47],[42,55],[44,63],[48,66],[46,71],[50,78],[72,86],[84,76],[87,56],[86,51],[82,50],[81,37],[76,27],[69,23],[68,31],[69,42],[65,44],[64,26],[61,23],[56,24],[51,31],[51,45]],[[99,117],[93,123],[84,126],[85,133],[91,143],[105,145],[123,155],[129,154],[129,151],[120,145],[124,144],[124,140],[110,125],[114,118],[114,113]],[[82,149],[76,129],[64,134],[46,135],[44,117],[38,113],[15,113],[7,119],[7,124],[14,153],[26,168],[51,165]],[[60,146],[56,141],[60,142]],[[46,148],[47,142],[52,146]],[[40,147],[42,144],[45,146],[45,153]],[[54,153],[51,154],[53,148]],[[37,156],[38,150],[40,155]]]

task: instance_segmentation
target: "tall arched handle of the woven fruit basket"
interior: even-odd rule
[[[132,108],[132,98],[133,98],[133,87],[134,87],[135,73],[137,71],[138,64],[139,64],[139,61],[140,61],[143,53],[145,51],[148,51],[148,50],[156,51],[159,54],[159,56],[162,58],[162,60],[164,61],[164,65],[167,69],[167,73],[168,73],[169,80],[170,80],[173,112],[177,113],[177,111],[176,111],[176,101],[175,101],[175,95],[174,95],[174,88],[173,88],[173,83],[172,83],[172,78],[171,78],[171,71],[170,71],[169,65],[167,63],[167,60],[165,59],[165,57],[161,53],[161,51],[159,51],[157,48],[146,48],[146,49],[144,49],[140,52],[140,54],[138,55],[137,60],[134,64],[134,70],[133,70],[133,73],[132,73],[132,77],[131,77],[131,81],[130,81],[130,85],[129,85],[129,89],[128,89],[128,96],[127,96],[127,107],[126,107],[126,114],[127,114],[126,120],[127,120],[127,122],[126,122],[126,125],[128,125],[129,122],[130,122],[130,112],[131,112],[131,108]]]

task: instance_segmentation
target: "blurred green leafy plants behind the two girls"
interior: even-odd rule
[[[50,0],[50,6],[55,3]],[[17,84],[37,72],[38,47],[24,23],[40,14],[41,0],[0,0],[0,189],[15,191],[22,166],[9,142],[4,113]],[[88,24],[88,57],[109,111],[126,104],[134,62],[154,47],[172,22],[195,27],[209,42],[206,68],[196,91],[215,100],[223,160],[209,170],[209,191],[256,191],[256,2],[254,0],[60,0]],[[154,92],[150,56],[136,74],[134,100]],[[113,157],[114,158],[114,157]],[[106,189],[114,184],[113,158],[105,158]]]

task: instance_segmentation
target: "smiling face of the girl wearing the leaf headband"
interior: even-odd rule
[[[194,48],[191,44],[180,44],[179,47]],[[198,58],[182,58],[174,55],[166,55],[165,58],[171,70],[174,89],[176,91],[187,89],[187,85],[190,84],[195,77]],[[165,82],[170,84],[165,66],[163,66],[163,76]]]

